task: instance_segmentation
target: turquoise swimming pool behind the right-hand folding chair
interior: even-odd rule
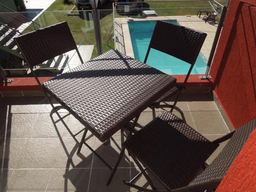
[[[173,24],[179,25],[177,20],[166,20]],[[153,34],[156,21],[129,21],[129,31],[132,41],[134,58],[143,62],[148,49],[148,45]],[[155,67],[170,75],[187,74],[189,64],[180,59],[174,58],[165,53],[151,49],[147,64]],[[195,66],[191,74],[204,74],[207,60],[202,53],[199,53]]]

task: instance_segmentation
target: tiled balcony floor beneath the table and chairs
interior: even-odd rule
[[[57,122],[54,127],[46,98],[3,97],[0,103],[0,191],[137,191],[122,182],[138,173],[127,154],[106,187],[110,170],[85,146],[80,155],[76,154],[77,145],[63,125]],[[178,106],[188,124],[210,140],[229,132],[210,93],[185,93]],[[156,115],[159,113],[161,110],[156,111]],[[150,119],[151,110],[146,109],[139,123],[145,125]],[[72,116],[65,121],[75,130],[83,128]],[[94,137],[88,142],[114,165],[121,146],[120,136],[120,131],[113,136],[116,144],[113,140],[101,143]],[[143,185],[145,180],[138,182]]]

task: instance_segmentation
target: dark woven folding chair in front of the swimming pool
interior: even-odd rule
[[[173,109],[178,110],[182,116],[182,119],[185,120],[182,111],[176,106],[176,104],[182,94],[183,88],[188,81],[188,77],[195,65],[197,56],[201,50],[205,38],[205,33],[196,31],[194,29],[174,25],[165,21],[158,20],[156,22],[144,63],[147,63],[151,49],[155,49],[170,54],[182,61],[186,61],[190,66],[183,83],[177,84],[175,87],[173,87],[173,89],[162,95],[161,98],[150,106],[151,109],[155,110],[155,108],[170,107],[171,112]],[[174,94],[177,94],[177,97],[174,99],[173,105],[167,105],[167,103],[165,103],[165,105],[160,105],[161,101],[166,100]]]

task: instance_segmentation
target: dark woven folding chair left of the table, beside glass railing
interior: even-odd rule
[[[52,111],[50,115],[52,116],[53,113],[58,115],[58,118],[63,123],[63,125],[66,127],[70,135],[73,137],[73,139],[79,143],[79,147],[77,150],[77,154],[80,153],[82,145],[84,144],[87,146],[97,157],[100,158],[100,160],[106,164],[109,169],[111,170],[112,167],[96,152],[93,150],[92,147],[90,147],[85,141],[85,136],[87,133],[86,126],[87,124],[81,120],[81,117],[77,116],[73,113],[72,108],[69,106],[62,105],[61,100],[58,99],[58,95],[54,97],[55,101],[57,100],[60,103],[60,106],[54,106],[52,102],[52,96],[50,96],[49,92],[45,89],[45,87],[41,84],[39,81],[36,73],[35,73],[35,66],[38,64],[41,64],[44,61],[47,61],[49,59],[52,59],[54,57],[57,57],[60,54],[66,53],[71,50],[76,50],[78,57],[83,63],[83,59],[81,57],[81,54],[78,51],[77,45],[74,41],[74,38],[71,34],[71,31],[68,27],[68,23],[61,22],[57,23],[55,25],[51,25],[49,27],[45,27],[36,31],[32,31],[30,33],[27,33],[25,35],[21,35],[17,38],[14,38],[15,42],[17,43],[19,50],[21,51],[23,58],[25,59],[26,64],[31,70],[31,73],[34,75],[38,85],[40,86],[43,93],[46,95],[47,99],[49,100]],[[60,93],[61,94],[61,93]],[[68,125],[65,123],[61,115],[59,114],[60,109],[66,109],[70,114],[75,116],[75,118],[78,119],[79,122],[81,122],[85,128],[78,133],[73,133]],[[76,139],[76,136],[83,132],[83,137],[81,141],[79,142]],[[89,136],[90,137],[90,136]]]

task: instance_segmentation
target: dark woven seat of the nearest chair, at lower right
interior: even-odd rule
[[[218,145],[164,111],[127,140],[125,147],[167,189],[173,189],[188,185]]]

